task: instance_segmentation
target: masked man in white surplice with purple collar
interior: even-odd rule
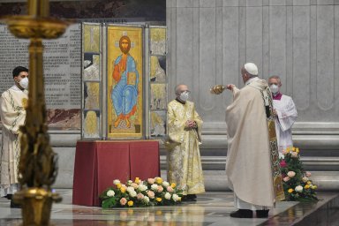
[[[298,112],[292,98],[280,93],[282,82],[279,76],[269,77],[268,85],[273,96],[275,132],[281,153],[287,147],[293,147],[291,128],[298,117]]]

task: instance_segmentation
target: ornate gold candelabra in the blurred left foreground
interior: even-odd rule
[[[52,203],[61,197],[50,188],[56,180],[57,156],[47,133],[42,39],[58,38],[70,23],[49,18],[49,0],[27,0],[27,6],[28,15],[4,18],[12,34],[30,39],[26,124],[20,128],[20,191],[13,201],[22,207],[23,225],[49,225]]]

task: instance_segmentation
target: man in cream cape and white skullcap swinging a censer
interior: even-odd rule
[[[257,217],[267,217],[275,201],[284,199],[272,96],[255,64],[245,64],[241,75],[245,87],[226,87],[233,93],[226,109],[226,175],[238,209],[230,216],[252,218],[255,210]]]

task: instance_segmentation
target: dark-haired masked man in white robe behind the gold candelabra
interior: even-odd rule
[[[28,69],[18,66],[12,73],[15,84],[0,97],[0,117],[3,124],[0,194],[9,200],[18,191],[19,127],[25,124],[28,100]],[[11,201],[11,207],[18,205]]]

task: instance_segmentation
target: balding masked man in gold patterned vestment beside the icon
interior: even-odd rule
[[[196,194],[205,192],[199,149],[202,120],[194,103],[187,101],[188,87],[177,85],[175,92],[177,98],[168,104],[167,179],[183,190],[183,200],[195,200]]]

